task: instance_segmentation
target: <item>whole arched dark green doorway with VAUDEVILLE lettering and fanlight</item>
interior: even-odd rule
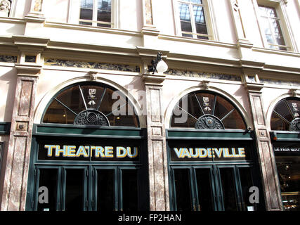
[[[167,130],[171,210],[259,210],[254,136],[233,101],[194,91],[178,101]],[[262,200],[263,197],[259,195]]]

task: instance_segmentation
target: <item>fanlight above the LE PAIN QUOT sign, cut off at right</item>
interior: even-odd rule
[[[299,98],[282,99],[275,106],[270,126],[279,131],[300,131],[300,101]]]

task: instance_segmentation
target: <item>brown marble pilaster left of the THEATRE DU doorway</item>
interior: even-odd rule
[[[34,99],[40,65],[16,64],[17,85],[8,143],[1,211],[25,210]]]

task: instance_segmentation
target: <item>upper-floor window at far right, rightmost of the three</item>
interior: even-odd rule
[[[259,5],[259,13],[261,15],[261,25],[266,35],[268,48],[287,50],[280,27],[280,18],[278,18],[275,8]]]

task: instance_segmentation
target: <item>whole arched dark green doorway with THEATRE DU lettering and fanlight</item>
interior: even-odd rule
[[[58,91],[34,124],[30,161],[27,210],[148,210],[145,130],[108,84]]]

